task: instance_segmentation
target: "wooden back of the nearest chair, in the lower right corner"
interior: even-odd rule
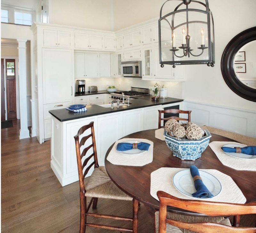
[[[189,200],[173,197],[172,195],[158,191],[159,198],[159,224],[158,232],[170,232],[167,229],[173,228],[172,232],[182,232],[179,228],[199,233],[252,233],[256,227],[235,227],[231,226],[228,219],[227,225],[214,222],[182,222],[167,218],[167,206],[177,207],[208,216],[230,216],[240,214],[256,214],[256,202],[248,204],[232,204],[224,202],[211,202],[204,200]],[[204,218],[204,217],[201,217]],[[223,221],[224,222],[224,221]],[[169,224],[169,225],[166,225]]]

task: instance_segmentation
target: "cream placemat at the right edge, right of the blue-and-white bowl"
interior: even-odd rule
[[[213,150],[213,152],[216,154],[220,162],[228,166],[230,168],[236,169],[236,170],[245,170],[245,171],[256,171],[256,159],[240,159],[233,156],[230,156],[226,154],[221,147],[227,144],[239,144],[244,145],[239,142],[220,142],[220,141],[214,141],[209,144],[209,147]],[[244,145],[246,146],[246,145]]]

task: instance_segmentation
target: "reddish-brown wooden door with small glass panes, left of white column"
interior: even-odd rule
[[[7,120],[16,119],[16,70],[15,59],[5,59]]]

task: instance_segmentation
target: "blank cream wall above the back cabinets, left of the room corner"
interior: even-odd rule
[[[113,31],[113,0],[50,0],[49,23]]]

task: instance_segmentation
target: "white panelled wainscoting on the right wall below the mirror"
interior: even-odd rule
[[[256,137],[256,111],[186,100],[183,101],[183,110],[191,110],[191,122],[200,126],[209,125]]]

